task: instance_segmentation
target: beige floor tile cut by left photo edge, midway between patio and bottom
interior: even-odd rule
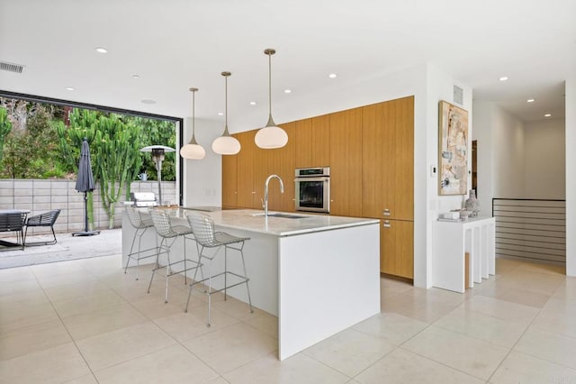
[[[58,320],[58,314],[50,303],[36,306],[13,306],[12,309],[3,307],[0,310],[0,334],[52,320]]]

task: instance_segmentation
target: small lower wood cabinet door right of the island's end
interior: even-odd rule
[[[380,221],[380,271],[414,279],[414,222]]]

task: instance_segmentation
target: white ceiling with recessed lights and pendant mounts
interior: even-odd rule
[[[0,0],[0,60],[24,66],[0,90],[184,117],[198,87],[196,117],[223,120],[229,70],[230,132],[266,123],[266,48],[277,123],[315,90],[425,62],[526,122],[563,118],[576,1]],[[261,117],[235,128],[241,114]]]

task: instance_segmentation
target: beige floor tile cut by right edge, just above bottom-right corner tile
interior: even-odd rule
[[[530,326],[514,350],[576,369],[576,338]]]

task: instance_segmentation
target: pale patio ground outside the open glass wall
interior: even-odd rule
[[[51,233],[33,236],[26,241],[39,242],[50,238]],[[0,270],[121,253],[121,228],[103,230],[94,236],[72,236],[72,233],[56,233],[56,238],[58,242],[54,245],[27,246],[23,251],[20,248],[0,250]],[[15,238],[4,238],[4,240],[15,241]]]

